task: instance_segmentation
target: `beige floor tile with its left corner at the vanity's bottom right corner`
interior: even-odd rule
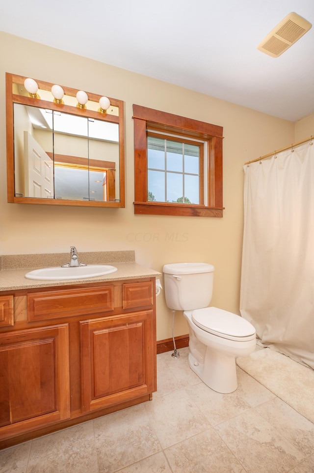
[[[184,389],[153,399],[145,404],[145,409],[163,448],[210,427]]]

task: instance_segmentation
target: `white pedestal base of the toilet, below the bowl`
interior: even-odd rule
[[[198,361],[192,353],[189,353],[188,364],[210,389],[223,394],[236,390],[235,357],[217,353],[206,347],[204,363]]]

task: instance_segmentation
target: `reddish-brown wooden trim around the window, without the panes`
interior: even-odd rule
[[[223,127],[133,104],[134,213],[222,217]],[[208,143],[208,206],[148,201],[147,129],[169,132]]]

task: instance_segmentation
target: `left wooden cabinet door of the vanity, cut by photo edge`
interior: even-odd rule
[[[0,439],[70,417],[68,325],[0,334]]]

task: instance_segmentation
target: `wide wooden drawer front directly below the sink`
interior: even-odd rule
[[[113,307],[113,286],[27,294],[29,322],[108,312]]]

